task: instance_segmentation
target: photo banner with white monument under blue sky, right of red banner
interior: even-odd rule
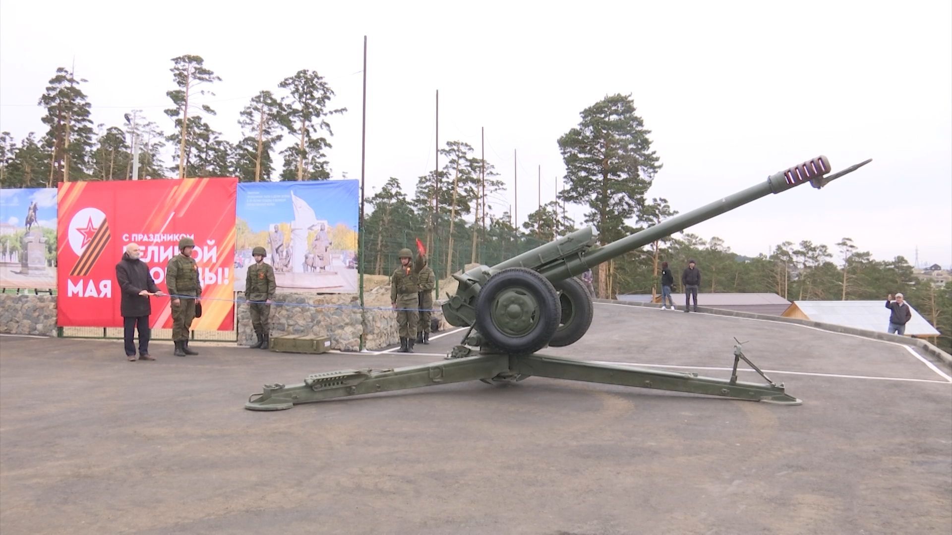
[[[235,291],[263,247],[278,291],[356,293],[359,209],[357,180],[239,184]]]

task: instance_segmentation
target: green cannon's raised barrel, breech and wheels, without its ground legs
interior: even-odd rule
[[[455,274],[460,284],[443,305],[446,321],[475,327],[490,347],[510,352],[531,353],[545,344],[567,346],[582,337],[592,317],[591,298],[574,276],[770,193],[807,182],[823,188],[870,161],[830,174],[829,160],[818,156],[603,247],[596,245],[594,229],[586,227],[491,268],[479,266]],[[473,336],[472,340],[481,339]]]

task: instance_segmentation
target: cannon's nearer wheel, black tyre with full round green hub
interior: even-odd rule
[[[476,328],[489,345],[509,353],[545,347],[560,317],[555,288],[527,268],[503,269],[489,277],[476,302]]]

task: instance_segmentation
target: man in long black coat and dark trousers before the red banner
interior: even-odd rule
[[[135,328],[139,328],[139,358],[144,361],[154,361],[149,356],[149,315],[152,313],[149,296],[165,295],[155,286],[149,266],[139,260],[140,250],[136,244],[126,246],[122,260],[116,264],[116,280],[122,295],[119,302],[119,311],[122,313],[125,327],[126,357],[129,362],[135,362],[135,345],[132,335]]]

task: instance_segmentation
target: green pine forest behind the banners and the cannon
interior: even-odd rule
[[[221,78],[197,55],[171,59],[169,70],[164,113],[129,109],[123,124],[106,125],[95,122],[83,92],[87,80],[69,69],[55,69],[37,101],[45,111],[46,131],[0,132],[0,187],[129,180],[133,139],[139,149],[137,179],[338,178],[326,150],[335,116],[348,111],[334,106],[334,91],[318,72],[302,69],[261,89],[234,118],[243,137],[225,139],[208,125],[207,117],[216,112],[203,100],[214,94]],[[402,190],[397,177],[389,178],[366,198],[360,268],[367,274],[389,273],[397,251],[419,238],[430,252],[431,266],[446,277],[470,263],[491,266],[580,226],[598,228],[605,244],[678,213],[664,198],[647,195],[663,163],[651,149],[651,131],[630,95],[605,96],[580,110],[580,117],[577,127],[554,140],[565,163],[559,200],[521,223],[493,209],[492,199],[504,192],[504,183],[493,164],[476,155],[471,142],[479,140],[447,141],[440,150],[443,167],[417,177],[413,191]],[[585,208],[585,221],[565,217],[566,204]],[[950,348],[952,285],[917,279],[902,256],[875,260],[848,237],[836,244],[784,242],[769,255],[746,257],[717,236],[704,239],[685,232],[600,266],[597,294],[658,292],[661,262],[678,272],[688,258],[703,269],[703,292],[775,292],[790,301],[884,301],[888,294],[902,292],[942,332],[940,346]]]

